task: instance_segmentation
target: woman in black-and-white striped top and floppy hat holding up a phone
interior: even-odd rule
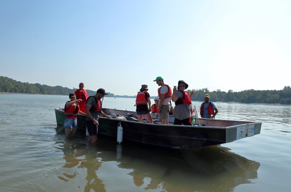
[[[191,117],[191,96],[194,94],[194,91],[191,91],[189,94],[185,91],[187,88],[188,84],[180,80],[178,82],[178,90],[176,88],[173,89],[172,101],[175,102],[173,113],[175,117],[174,125],[192,125],[189,120]]]

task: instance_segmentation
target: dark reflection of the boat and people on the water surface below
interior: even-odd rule
[[[64,154],[63,168],[74,168],[74,172],[63,171],[58,178],[86,182],[86,192],[233,191],[239,184],[253,182],[260,167],[221,146],[177,152],[136,143],[116,145],[115,139],[99,136],[93,146],[67,141],[59,143],[59,149]],[[86,181],[76,179],[81,172],[85,175],[84,170]]]

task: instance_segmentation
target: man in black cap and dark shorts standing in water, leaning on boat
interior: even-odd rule
[[[97,93],[94,96],[89,96],[86,100],[86,125],[89,133],[88,143],[94,144],[97,140],[98,134],[98,125],[99,125],[99,114],[104,117],[111,118],[102,112],[102,103],[101,99],[104,95],[108,95],[105,93],[105,90],[100,88],[97,90]]]

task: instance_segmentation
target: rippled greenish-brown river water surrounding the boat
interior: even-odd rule
[[[261,134],[180,152],[101,135],[88,146],[81,131],[65,141],[54,108],[66,101],[0,94],[0,191],[290,191],[291,106],[217,102],[217,119],[262,121]],[[134,111],[134,103],[103,106]]]

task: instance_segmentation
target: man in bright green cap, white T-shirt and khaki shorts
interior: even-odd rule
[[[162,77],[157,77],[155,80],[159,86],[159,109],[158,113],[160,114],[160,122],[162,124],[169,124],[169,112],[171,110],[170,99],[172,97],[172,89],[169,85],[164,84],[164,79]]]

